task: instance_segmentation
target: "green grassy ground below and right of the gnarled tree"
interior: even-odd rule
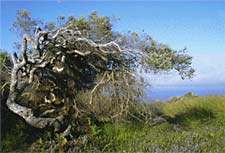
[[[91,134],[76,139],[80,143],[67,145],[66,151],[225,152],[225,96],[188,94],[149,105],[160,107],[166,120],[154,126],[126,120],[93,125]],[[69,143],[63,137],[57,139],[62,148]],[[42,139],[36,144],[45,152]]]

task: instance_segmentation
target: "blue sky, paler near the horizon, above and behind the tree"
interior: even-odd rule
[[[115,16],[116,31],[145,30],[153,39],[175,50],[188,48],[196,76],[182,81],[179,76],[146,75],[157,85],[225,84],[225,1],[150,2],[150,1],[1,1],[1,46],[13,51],[18,38],[9,28],[17,9],[27,9],[34,18],[55,21],[57,16]]]

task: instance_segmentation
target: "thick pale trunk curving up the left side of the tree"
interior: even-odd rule
[[[19,62],[16,53],[12,54],[12,61],[13,61],[13,69],[11,73],[11,85],[10,85],[10,93],[9,97],[7,99],[7,106],[11,111],[16,113],[17,115],[21,116],[25,121],[37,128],[45,128],[47,126],[59,126],[61,125],[61,122],[63,120],[63,116],[58,116],[56,118],[42,118],[42,117],[36,117],[34,116],[34,113],[31,108],[21,106],[16,103],[17,97],[20,94],[19,89],[18,89],[18,73],[19,70],[21,70],[28,62],[27,58],[27,43],[28,41],[34,41],[37,46],[39,45],[39,38],[40,35],[44,34],[43,33],[37,33],[36,40],[32,40],[32,38],[28,35],[23,36],[23,41],[22,41],[22,61]],[[37,47],[38,48],[38,47]],[[33,68],[30,71],[30,79],[28,83],[32,82],[33,78],[33,73],[38,67],[45,67],[46,62],[42,63],[41,65],[36,65],[35,68]]]

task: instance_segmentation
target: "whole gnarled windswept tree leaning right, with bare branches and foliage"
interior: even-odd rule
[[[19,15],[30,23],[29,13]],[[175,69],[182,78],[194,73],[185,50],[157,44],[147,34],[114,32],[110,18],[97,12],[58,20],[58,27],[36,27],[33,35],[27,25],[33,28],[36,22],[23,24],[17,18],[13,25],[25,34],[21,55],[12,55],[7,105],[31,126],[68,133],[82,115],[129,115],[142,93],[140,68],[154,73]]]

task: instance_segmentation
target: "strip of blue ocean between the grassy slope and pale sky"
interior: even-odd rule
[[[225,95],[224,85],[194,85],[194,86],[151,86],[144,89],[144,101],[165,101],[174,96],[182,96],[192,92],[199,96]]]

